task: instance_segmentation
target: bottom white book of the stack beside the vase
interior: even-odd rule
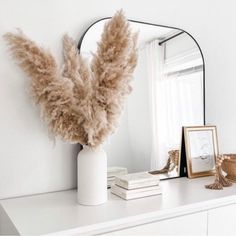
[[[112,185],[111,193],[125,200],[131,200],[131,199],[158,195],[162,193],[162,190],[160,186],[151,186],[151,187],[146,187],[146,188],[127,190],[117,185]]]

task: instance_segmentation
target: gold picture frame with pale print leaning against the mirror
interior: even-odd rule
[[[214,175],[219,155],[216,126],[184,127],[184,140],[188,178]]]

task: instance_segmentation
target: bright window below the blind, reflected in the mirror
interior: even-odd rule
[[[171,149],[179,149],[182,126],[203,124],[202,72],[164,77],[159,81],[160,164]],[[163,109],[165,108],[165,109]]]

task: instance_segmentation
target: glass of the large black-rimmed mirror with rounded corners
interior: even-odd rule
[[[88,60],[107,20],[92,24],[80,40]],[[117,132],[104,144],[108,167],[178,177],[182,126],[204,124],[202,54],[183,30],[136,21],[130,26],[139,32],[138,64]]]

